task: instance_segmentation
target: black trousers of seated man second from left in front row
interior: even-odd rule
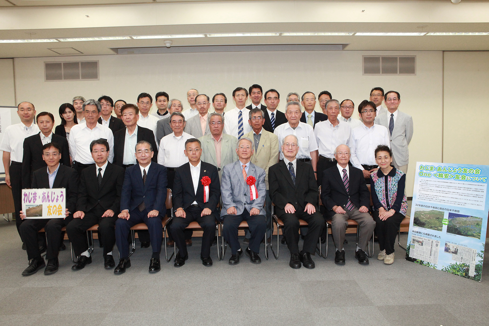
[[[89,212],[85,213],[83,218],[73,218],[66,227],[68,238],[73,245],[75,256],[80,256],[88,250],[87,230],[95,224],[98,224],[99,240],[104,244],[104,256],[112,251],[115,244],[115,221],[117,214],[113,217],[102,217],[105,210],[97,205]]]

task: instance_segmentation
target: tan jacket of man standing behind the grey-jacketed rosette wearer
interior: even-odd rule
[[[265,170],[265,185],[268,189],[268,169],[278,162],[279,156],[279,144],[277,135],[262,129],[262,135],[260,136],[260,142],[258,143],[258,150],[255,152],[255,143],[253,134],[255,132],[251,130],[246,133],[244,137],[248,137],[253,141],[253,156],[251,156],[251,162],[258,165]]]

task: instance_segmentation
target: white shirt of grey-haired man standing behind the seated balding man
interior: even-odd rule
[[[333,152],[336,147],[341,144],[350,146],[348,141],[350,139],[351,130],[352,128],[349,123],[340,120],[338,120],[338,124],[334,127],[330,120],[316,123],[314,135],[317,138],[319,155],[333,158]]]

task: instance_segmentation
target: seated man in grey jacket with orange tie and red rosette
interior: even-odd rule
[[[243,256],[238,240],[238,227],[242,221],[248,222],[251,238],[245,253],[252,263],[259,264],[262,262],[258,256],[260,242],[267,229],[266,212],[263,207],[267,193],[265,170],[251,163],[251,139],[242,137],[236,153],[239,160],[226,165],[222,172],[222,234],[231,247],[229,264],[236,265]]]

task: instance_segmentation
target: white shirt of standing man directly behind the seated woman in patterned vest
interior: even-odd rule
[[[352,130],[349,144],[352,165],[363,170],[362,164],[377,165],[375,149],[378,145],[386,145],[390,148],[389,130],[380,125],[369,128],[362,124]]]

